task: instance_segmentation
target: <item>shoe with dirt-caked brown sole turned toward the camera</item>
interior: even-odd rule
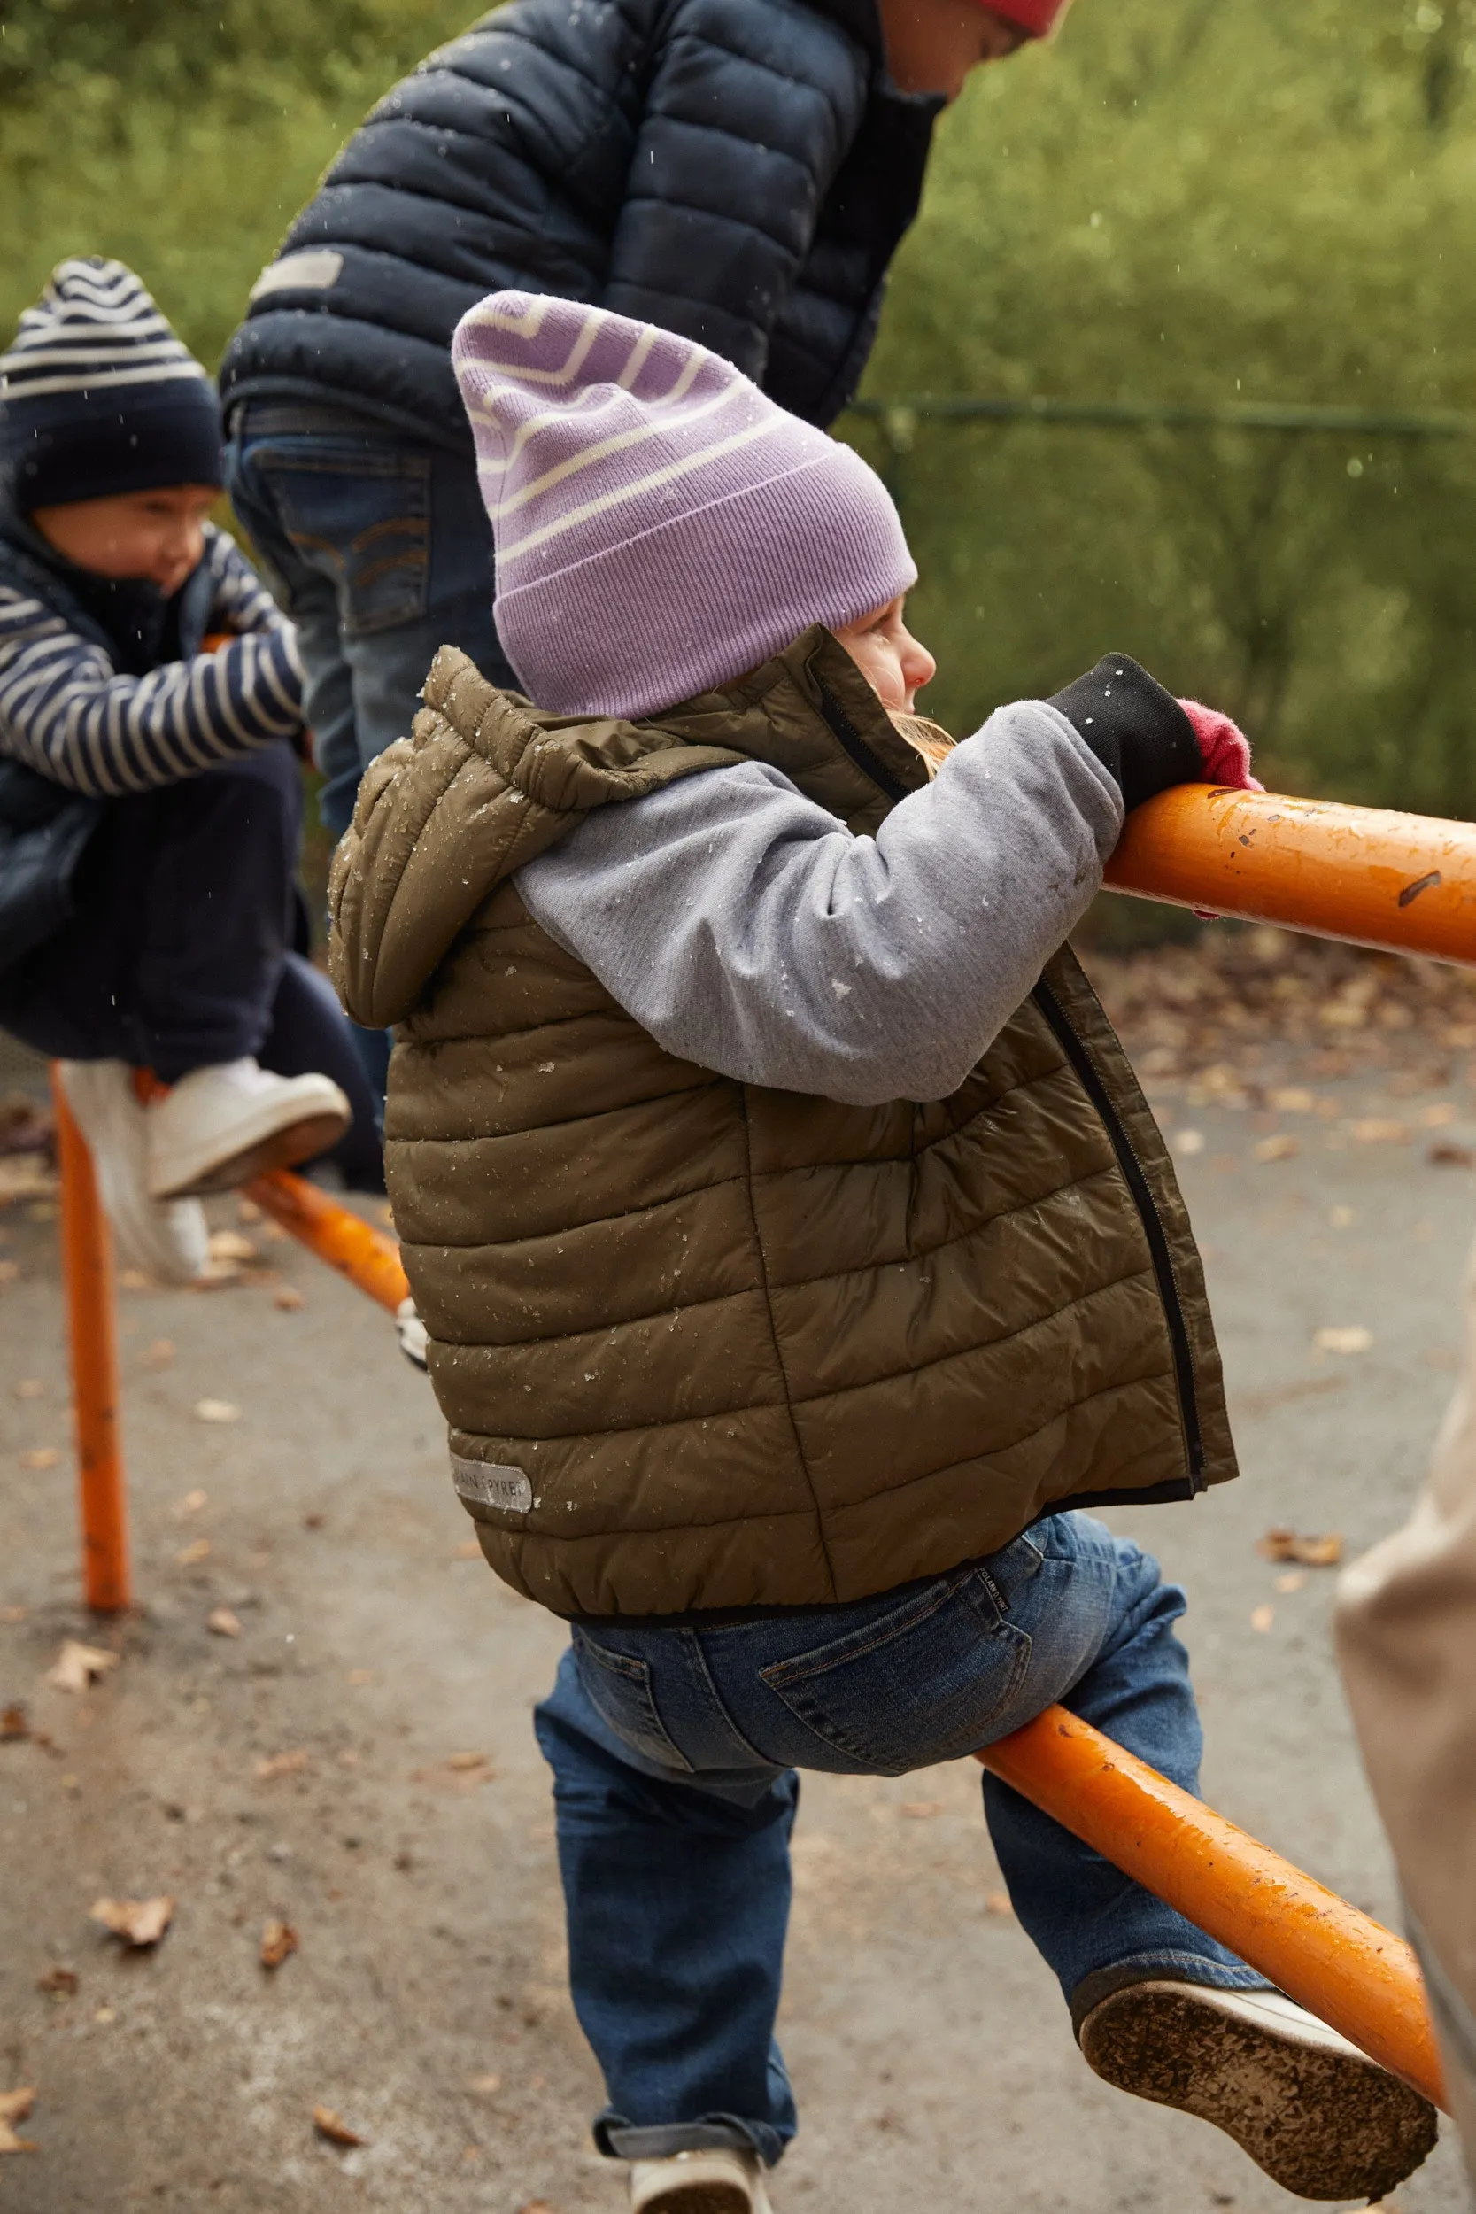
[[[1126,1984],[1084,2017],[1087,2066],[1213,2121],[1301,2199],[1385,2199],[1436,2141],[1436,2112],[1279,1990]]]

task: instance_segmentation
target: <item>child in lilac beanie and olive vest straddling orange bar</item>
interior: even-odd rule
[[[456,370],[531,700],[438,655],[334,866],[456,1488],[571,1623],[553,1769],[600,2148],[755,2214],[797,1769],[1053,1700],[1195,1789],[1184,1596],[1087,1512],[1235,1475],[1168,1156],[1064,937],[1124,813],[1248,773],[1126,655],[952,746],[876,476],[686,339],[502,292]],[[1204,731],[1204,748],[1197,735]],[[1111,2083],[1290,2190],[1432,2110],[985,1778]]]

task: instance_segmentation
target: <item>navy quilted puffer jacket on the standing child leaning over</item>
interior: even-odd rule
[[[726,354],[830,423],[872,350],[940,100],[874,0],[507,0],[374,108],[263,270],[224,401],[467,447],[449,343],[502,286]]]

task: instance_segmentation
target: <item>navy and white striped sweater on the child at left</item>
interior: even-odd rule
[[[0,576],[0,755],[73,793],[117,799],[292,737],[303,722],[292,624],[235,538],[210,523],[201,569],[201,629],[241,635],[146,675],[122,675],[40,593]]]

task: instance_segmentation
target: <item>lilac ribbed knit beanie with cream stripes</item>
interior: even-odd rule
[[[451,345],[496,622],[555,715],[653,715],[916,582],[859,454],[693,339],[493,292]]]

